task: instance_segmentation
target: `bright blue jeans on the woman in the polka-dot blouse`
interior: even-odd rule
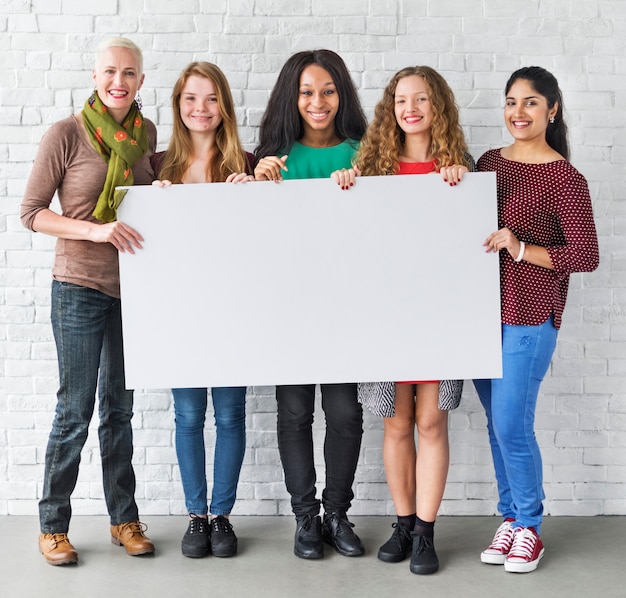
[[[539,386],[556,347],[552,318],[539,326],[502,325],[502,378],[474,380],[487,414],[498,511],[514,526],[541,532],[543,470],[535,438]]]

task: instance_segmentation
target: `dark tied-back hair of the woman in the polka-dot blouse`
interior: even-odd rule
[[[563,120],[563,94],[559,89],[556,77],[540,66],[525,66],[515,71],[506,82],[504,94],[507,95],[518,79],[528,81],[533,89],[546,98],[548,108],[552,108],[558,102],[558,108],[554,115],[554,123],[550,123],[546,130],[548,145],[557,151],[566,160],[569,160],[569,144],[567,142],[567,125]]]

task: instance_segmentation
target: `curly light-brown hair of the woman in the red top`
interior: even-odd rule
[[[430,153],[435,158],[436,168],[452,164],[470,166],[465,136],[459,124],[459,109],[450,86],[433,68],[411,66],[398,71],[391,78],[374,110],[374,119],[355,158],[356,165],[365,176],[398,172],[405,133],[396,120],[395,93],[400,79],[412,75],[422,77],[428,89],[433,111]]]

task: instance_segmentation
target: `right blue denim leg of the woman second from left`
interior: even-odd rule
[[[246,452],[246,387],[214,387],[211,395],[216,437],[210,512],[228,515],[235,504]]]

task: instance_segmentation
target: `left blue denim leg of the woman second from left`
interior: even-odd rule
[[[173,388],[176,456],[188,513],[206,515],[207,482],[204,447],[206,388]]]

